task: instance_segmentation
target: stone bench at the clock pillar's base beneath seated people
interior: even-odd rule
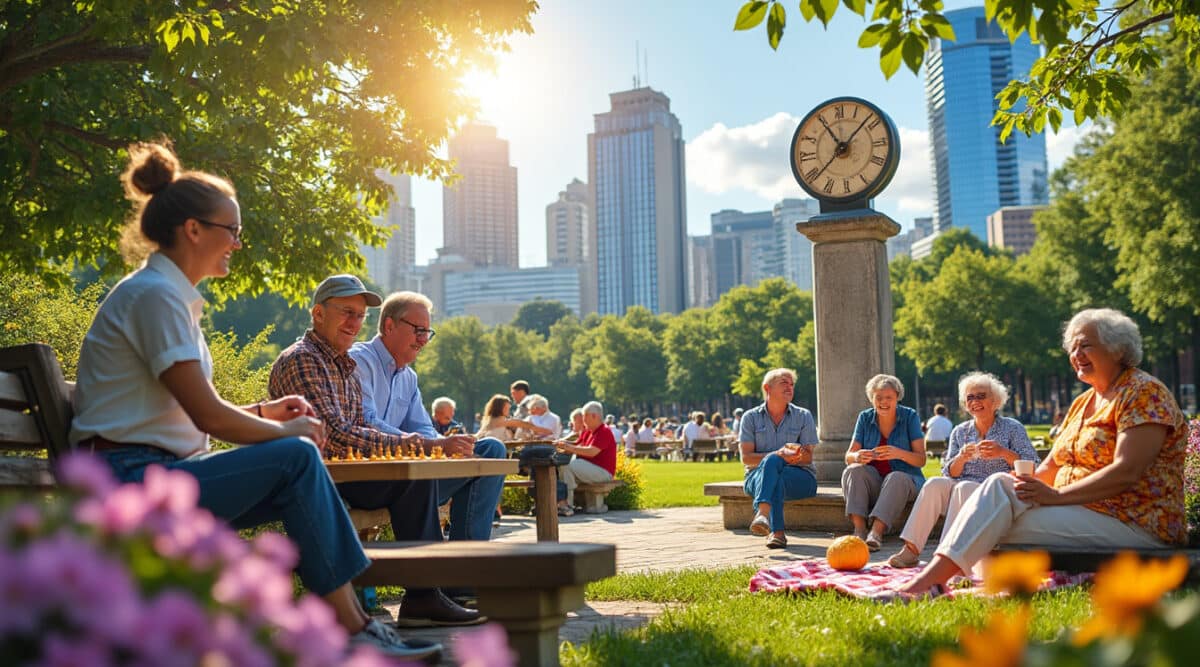
[[[751,498],[746,495],[743,482],[709,482],[704,485],[704,495],[715,495],[721,504],[721,522],[727,530],[745,530],[754,519],[755,509]],[[889,527],[888,534],[894,535],[904,528],[912,503],[905,506],[900,521]],[[821,533],[848,533],[850,518],[846,517],[846,499],[839,486],[818,486],[817,494],[804,500],[784,503],[784,528],[787,530],[815,530]],[[934,534],[941,530],[941,522],[934,528]]]

